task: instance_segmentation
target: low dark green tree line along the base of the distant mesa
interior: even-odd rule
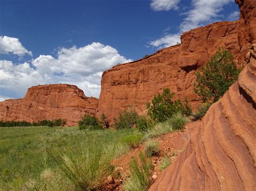
[[[56,120],[42,120],[39,122],[25,122],[25,121],[7,121],[7,122],[3,122],[0,121],[0,127],[12,127],[12,126],[49,126],[49,127],[53,127],[53,126],[65,126],[66,124],[66,119],[56,119]]]

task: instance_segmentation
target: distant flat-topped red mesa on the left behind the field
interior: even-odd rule
[[[76,86],[33,86],[23,99],[0,102],[0,121],[38,122],[63,118],[67,119],[67,125],[76,125],[84,114],[95,116],[97,108],[98,100],[86,97]]]

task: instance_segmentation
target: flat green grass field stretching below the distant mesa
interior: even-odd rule
[[[78,189],[79,182],[85,181],[77,180],[79,176],[90,175],[87,171],[91,169],[83,168],[84,164],[87,165],[89,160],[97,161],[102,155],[104,159],[100,159],[100,162],[124,154],[129,146],[123,142],[123,138],[136,134],[139,132],[133,129],[84,131],[77,127],[0,128],[0,190]],[[103,154],[96,156],[95,153]],[[71,162],[70,156],[73,159]],[[98,164],[104,165],[100,162]],[[88,174],[76,174],[74,169],[77,164],[82,164],[79,173]],[[93,166],[92,174],[97,174],[95,166],[98,164],[89,164],[89,168]],[[63,165],[70,169],[71,175],[61,170]],[[75,177],[74,181],[69,175]],[[93,176],[91,179],[97,178]]]

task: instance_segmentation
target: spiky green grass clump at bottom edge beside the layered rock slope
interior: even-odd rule
[[[130,178],[124,182],[124,190],[142,191],[149,189],[150,186],[150,169],[152,168],[151,161],[147,161],[143,153],[139,153],[139,158],[142,166],[139,166],[135,157],[129,164]]]

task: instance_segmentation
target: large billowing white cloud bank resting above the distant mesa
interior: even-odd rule
[[[117,49],[100,43],[62,47],[57,58],[39,55],[31,63],[17,65],[0,60],[0,92],[2,88],[22,97],[27,88],[37,84],[69,83],[83,89],[86,96],[98,97],[103,71],[129,61],[132,60],[118,54]]]

